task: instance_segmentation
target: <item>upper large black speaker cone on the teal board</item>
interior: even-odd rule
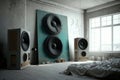
[[[47,14],[42,24],[49,34],[58,34],[61,31],[61,21],[55,14]]]

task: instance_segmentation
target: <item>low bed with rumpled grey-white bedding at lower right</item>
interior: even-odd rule
[[[117,80],[120,78],[120,58],[112,58],[93,63],[71,64],[64,71],[64,74]]]

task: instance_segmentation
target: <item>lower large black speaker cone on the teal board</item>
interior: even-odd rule
[[[44,51],[49,55],[51,58],[56,58],[60,56],[62,52],[62,42],[58,37],[50,36],[47,37],[44,41]]]

